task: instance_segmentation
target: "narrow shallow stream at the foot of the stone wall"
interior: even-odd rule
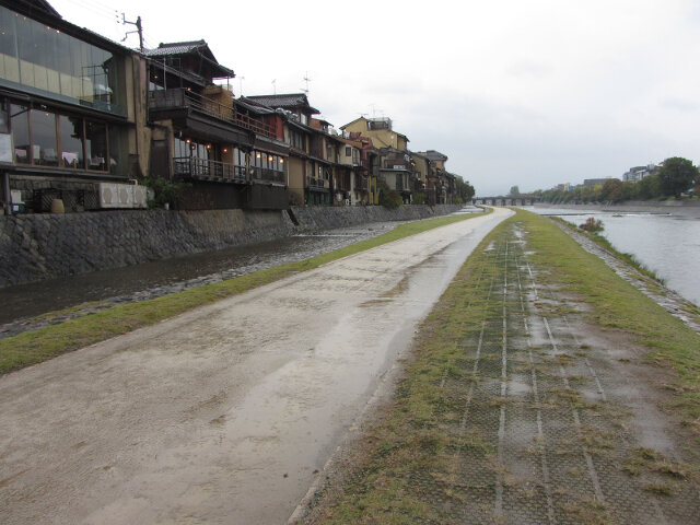
[[[481,209],[469,206],[457,213],[480,211]],[[404,222],[410,221],[358,224],[0,289],[0,304],[3,305],[0,308],[0,339],[116,304],[153,299],[307,259],[381,235]],[[85,306],[85,303],[91,302],[95,304]],[[61,315],[50,322],[36,318],[48,312],[78,305],[81,305],[79,314]]]

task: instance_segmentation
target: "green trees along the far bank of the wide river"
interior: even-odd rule
[[[693,186],[697,189],[692,189]],[[688,194],[689,190],[692,190]],[[609,178],[595,186],[536,191],[545,202],[623,202],[629,200],[677,200],[700,198],[700,172],[691,161],[679,156],[666,159],[653,174],[639,182]]]

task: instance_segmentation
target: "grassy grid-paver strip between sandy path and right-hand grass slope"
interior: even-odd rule
[[[591,324],[532,236],[510,222],[475,254],[300,522],[699,523],[700,447],[669,409],[673,373]]]

